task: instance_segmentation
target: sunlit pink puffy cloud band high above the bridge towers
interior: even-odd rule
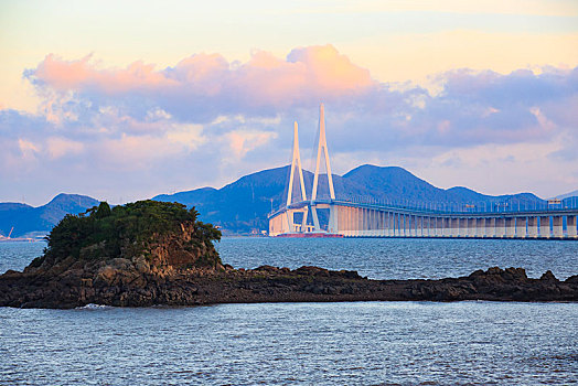
[[[213,97],[248,107],[317,104],[358,95],[377,85],[367,69],[332,45],[295,49],[286,58],[258,51],[243,64],[229,63],[218,54],[195,54],[164,69],[142,62],[126,68],[100,68],[90,56],[65,61],[50,54],[26,76],[40,87],[60,92]]]

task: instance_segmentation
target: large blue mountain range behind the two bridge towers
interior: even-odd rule
[[[253,229],[267,229],[267,214],[272,208],[283,205],[287,200],[286,185],[289,171],[290,167],[264,170],[245,175],[222,189],[203,187],[170,195],[161,194],[153,200],[180,202],[189,207],[195,206],[205,222],[220,225],[225,232],[249,233]],[[491,196],[461,186],[443,190],[398,167],[382,168],[365,164],[343,176],[336,174],[332,176],[338,199],[388,201],[408,205],[424,205],[431,202],[474,205],[512,202],[516,205],[528,205],[543,202],[532,193]],[[303,179],[310,197],[313,174],[303,171]],[[321,175],[319,197],[329,195],[327,186],[327,175]],[[299,194],[299,190],[295,189],[293,197]]]

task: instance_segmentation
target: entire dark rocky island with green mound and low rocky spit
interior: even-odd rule
[[[0,276],[0,305],[75,308],[196,305],[232,302],[496,300],[578,301],[578,276],[490,268],[439,280],[371,280],[319,267],[224,265],[221,232],[178,203],[100,203],[67,215],[47,237],[44,255],[23,272]]]

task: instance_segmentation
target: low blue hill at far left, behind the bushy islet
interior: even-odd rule
[[[28,233],[47,233],[66,214],[82,213],[98,205],[98,201],[86,195],[64,194],[56,195],[45,205],[33,207],[19,203],[0,203],[0,235],[20,237]]]

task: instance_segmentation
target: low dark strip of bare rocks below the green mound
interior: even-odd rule
[[[552,272],[527,278],[522,268],[490,268],[439,280],[371,280],[355,271],[270,266],[244,270],[189,269],[139,272],[130,261],[110,261],[96,277],[65,270],[55,277],[8,271],[0,276],[0,305],[69,309],[89,303],[115,307],[201,305],[328,301],[578,301],[578,276]],[[132,267],[130,267],[132,266]]]

